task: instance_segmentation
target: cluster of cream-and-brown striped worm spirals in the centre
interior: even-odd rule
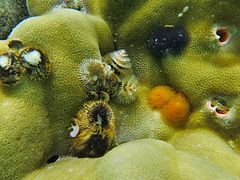
[[[137,97],[139,83],[125,50],[111,52],[101,59],[85,59],[79,65],[79,78],[88,92],[102,94],[120,104]]]

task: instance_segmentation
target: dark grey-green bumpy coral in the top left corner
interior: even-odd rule
[[[0,39],[6,39],[20,21],[28,17],[25,0],[1,0]]]

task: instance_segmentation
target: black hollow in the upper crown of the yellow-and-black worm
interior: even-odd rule
[[[95,122],[98,122],[101,118],[102,126],[105,127],[108,125],[108,114],[108,109],[103,104],[100,104],[93,109],[91,116]]]

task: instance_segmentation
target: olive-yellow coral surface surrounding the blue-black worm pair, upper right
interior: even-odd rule
[[[88,2],[90,10],[110,24],[117,46],[128,50],[142,82],[157,85],[168,80],[194,107],[209,93],[239,94],[238,1]],[[183,25],[187,30],[190,40],[179,56],[158,58],[148,51],[150,33],[164,25]],[[214,36],[218,27],[227,27],[231,34],[224,46]]]

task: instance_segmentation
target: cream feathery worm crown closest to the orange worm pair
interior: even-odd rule
[[[119,90],[114,95],[116,102],[120,104],[133,103],[137,98],[138,89],[139,82],[134,75],[123,79],[120,84]]]

